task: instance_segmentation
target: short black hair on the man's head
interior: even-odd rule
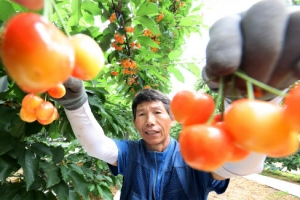
[[[148,101],[161,101],[164,104],[170,118],[171,119],[173,118],[172,113],[170,111],[171,100],[169,99],[169,97],[158,90],[150,88],[150,89],[143,89],[133,99],[131,109],[132,109],[132,115],[134,120],[136,118],[137,106],[141,103],[148,102]]]

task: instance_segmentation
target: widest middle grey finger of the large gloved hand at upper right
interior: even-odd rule
[[[240,69],[258,81],[267,83],[282,51],[288,11],[281,1],[264,0],[245,13],[243,57]]]

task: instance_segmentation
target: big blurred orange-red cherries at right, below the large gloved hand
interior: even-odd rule
[[[182,125],[183,159],[191,167],[213,171],[225,162],[244,159],[250,152],[285,157],[297,152],[300,132],[300,87],[295,85],[283,104],[239,99],[215,114],[214,99],[206,93],[180,91],[171,111]]]

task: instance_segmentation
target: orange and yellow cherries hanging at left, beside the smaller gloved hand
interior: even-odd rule
[[[91,36],[69,35],[67,30],[65,34],[46,17],[30,12],[42,9],[43,0],[14,1],[29,11],[15,14],[5,23],[0,38],[1,60],[10,78],[27,93],[22,100],[21,119],[47,125],[58,119],[48,97],[63,97],[63,83],[70,77],[94,79],[104,67],[105,57]]]

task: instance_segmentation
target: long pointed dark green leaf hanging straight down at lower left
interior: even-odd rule
[[[28,190],[34,181],[35,174],[38,171],[38,160],[31,150],[25,149],[24,154],[20,155],[18,163],[23,168],[26,189]]]

